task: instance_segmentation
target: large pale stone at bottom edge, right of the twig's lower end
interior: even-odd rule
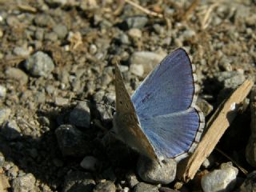
[[[232,191],[236,183],[238,169],[232,163],[222,163],[220,170],[213,170],[202,176],[202,190],[206,192]]]

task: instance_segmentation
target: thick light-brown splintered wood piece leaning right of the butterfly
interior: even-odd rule
[[[237,90],[234,90],[234,93],[230,95],[230,98],[228,98],[226,102],[223,102],[223,104],[218,107],[207,123],[207,132],[203,136],[202,141],[199,142],[196,150],[194,150],[194,154],[179,163],[178,178],[182,179],[184,182],[188,182],[190,179],[194,178],[202,162],[214,150],[222,134],[224,134],[225,130],[238,114],[238,105],[243,102],[253,85],[254,82],[246,80]]]

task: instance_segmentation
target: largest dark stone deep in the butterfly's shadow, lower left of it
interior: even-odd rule
[[[82,157],[90,153],[90,146],[85,140],[85,135],[74,126],[58,126],[55,135],[63,156]]]

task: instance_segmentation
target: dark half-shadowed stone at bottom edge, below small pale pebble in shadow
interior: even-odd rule
[[[90,173],[74,171],[66,175],[63,192],[91,192],[94,189],[94,178]]]

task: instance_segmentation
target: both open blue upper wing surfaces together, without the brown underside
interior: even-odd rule
[[[204,126],[204,117],[195,106],[195,92],[190,58],[178,49],[132,95],[142,131],[158,157],[184,157],[194,150]]]

